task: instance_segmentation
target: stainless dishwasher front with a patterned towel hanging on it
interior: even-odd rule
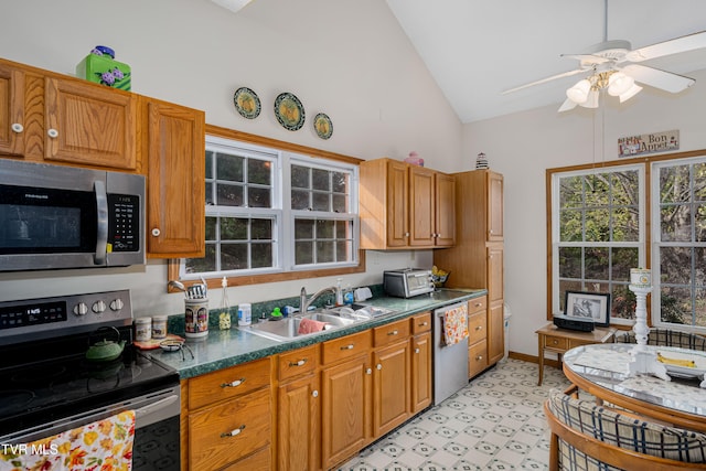
[[[467,306],[467,302],[460,302],[434,311],[435,405],[468,385],[468,336],[458,343],[447,345],[443,334],[447,313],[457,311],[468,319]]]

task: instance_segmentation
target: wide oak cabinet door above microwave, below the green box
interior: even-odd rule
[[[137,168],[137,95],[47,76],[44,107],[46,161]]]

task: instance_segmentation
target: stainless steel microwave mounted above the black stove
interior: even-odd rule
[[[145,176],[0,159],[0,271],[145,264]]]

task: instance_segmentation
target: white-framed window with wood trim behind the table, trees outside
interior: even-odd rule
[[[631,325],[630,268],[650,267],[651,324],[706,331],[706,158],[677,157],[547,171],[552,312],[567,290],[609,292]]]

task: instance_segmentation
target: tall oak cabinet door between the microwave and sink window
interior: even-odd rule
[[[205,116],[141,97],[147,156],[147,249],[151,258],[205,254]]]

